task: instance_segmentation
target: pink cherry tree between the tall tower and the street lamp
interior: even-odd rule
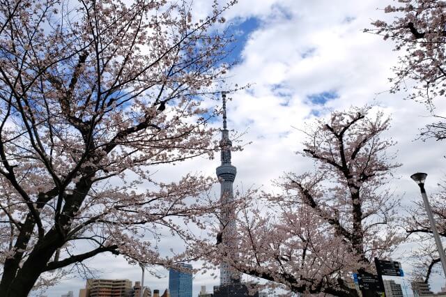
[[[314,171],[285,174],[282,195],[247,199],[238,215],[238,252],[215,258],[300,293],[357,296],[352,273],[374,273],[401,241],[387,183],[399,165],[385,139],[390,119],[371,107],[332,112],[305,129],[302,155]],[[248,194],[248,196],[251,194]]]

